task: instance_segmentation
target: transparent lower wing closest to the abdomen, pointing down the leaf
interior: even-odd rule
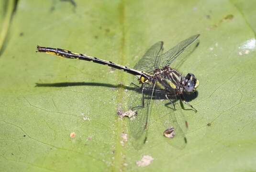
[[[141,149],[147,140],[149,118],[154,104],[154,86],[155,83],[149,87],[135,88],[129,98],[129,109],[136,112],[135,118],[131,119],[129,123],[135,149]],[[144,107],[142,106],[142,91]]]

